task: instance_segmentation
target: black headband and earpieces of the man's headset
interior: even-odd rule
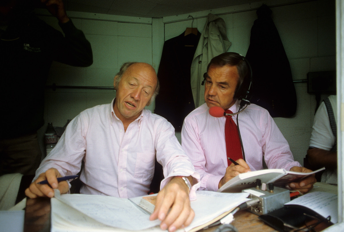
[[[248,62],[248,60],[243,55],[241,55],[241,54],[239,54],[239,55],[247,64],[247,67],[249,69],[249,79],[247,77],[244,78],[243,82],[240,84],[240,86],[235,91],[234,98],[238,98],[239,100],[241,100],[240,106],[244,107],[245,105],[250,104],[249,93],[250,93],[250,89],[252,86],[252,68],[251,68],[251,65]],[[204,85],[206,77],[207,77],[207,72],[205,72],[203,74],[203,81],[201,83],[202,85]],[[241,105],[241,104],[243,104],[243,105]]]

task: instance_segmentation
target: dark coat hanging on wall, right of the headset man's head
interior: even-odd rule
[[[262,5],[251,28],[246,54],[253,73],[250,101],[267,109],[272,117],[291,117],[296,112],[296,92],[271,13],[268,6]]]

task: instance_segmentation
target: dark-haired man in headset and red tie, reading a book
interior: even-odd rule
[[[226,117],[211,116],[209,108],[217,106],[238,112],[241,107],[236,93],[249,75],[245,58],[235,52],[220,54],[208,64],[204,74],[205,103],[187,115],[182,128],[182,147],[201,175],[199,190],[217,191],[240,173],[261,170],[263,159],[269,169],[311,172],[294,161],[287,140],[269,112],[255,104],[249,104],[240,114],[232,116],[234,122],[239,124],[243,159],[236,159],[239,165],[227,162],[224,133]],[[315,182],[312,175],[289,186],[306,193]]]

